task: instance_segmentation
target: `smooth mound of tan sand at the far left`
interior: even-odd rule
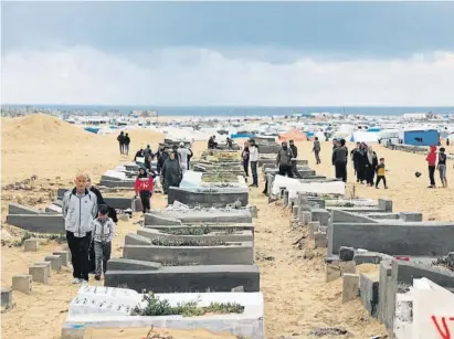
[[[44,114],[29,115],[20,118],[3,119],[3,147],[11,147],[19,142],[27,145],[52,145],[51,142],[66,144],[92,141],[96,137],[81,127],[63,121]]]

